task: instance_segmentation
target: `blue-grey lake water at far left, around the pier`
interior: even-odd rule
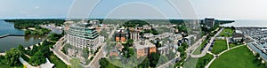
[[[24,31],[14,28],[12,23],[7,23],[0,19],[0,35],[4,34],[24,34]],[[17,48],[20,44],[24,47],[42,42],[44,36],[8,36],[0,38],[0,53],[11,48]]]

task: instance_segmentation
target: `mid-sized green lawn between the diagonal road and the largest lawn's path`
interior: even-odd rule
[[[214,53],[214,54],[219,54],[219,53],[221,53],[225,49],[227,49],[227,42],[226,42],[226,40],[216,40],[214,42],[214,47],[211,50],[211,52]]]

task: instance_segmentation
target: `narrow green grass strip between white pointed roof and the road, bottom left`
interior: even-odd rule
[[[59,57],[56,57],[55,55],[51,55],[49,57],[49,61],[53,64],[55,64],[54,67],[56,68],[68,68],[68,65],[61,61]]]

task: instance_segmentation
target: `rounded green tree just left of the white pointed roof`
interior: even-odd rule
[[[46,62],[44,54],[41,51],[37,51],[36,54],[29,59],[29,63],[32,65],[40,65]]]

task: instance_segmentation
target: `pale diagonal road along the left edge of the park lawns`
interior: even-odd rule
[[[203,51],[201,52],[200,55],[193,55],[190,54],[190,57],[204,57],[206,55],[206,52],[208,51],[209,47],[211,46],[211,42],[214,41],[215,37],[220,34],[223,31],[224,28],[222,28],[219,32],[217,32],[217,34],[215,34],[213,37],[211,37],[209,43],[206,44],[205,49],[203,49]]]

